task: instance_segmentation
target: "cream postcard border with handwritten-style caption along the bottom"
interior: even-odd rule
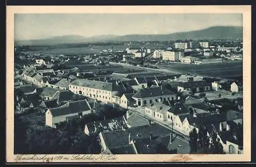
[[[251,6],[7,6],[6,38],[6,161],[7,162],[210,162],[250,161],[251,159]],[[243,83],[244,83],[244,154],[152,154],[115,155],[115,158],[100,160],[83,158],[72,160],[74,155],[35,155],[40,160],[17,160],[14,155],[14,14],[15,13],[243,13]],[[28,156],[28,155],[23,155]],[[32,157],[33,155],[29,155]],[[83,155],[79,155],[82,157]],[[99,156],[99,155],[91,155]],[[44,158],[43,158],[44,157]]]

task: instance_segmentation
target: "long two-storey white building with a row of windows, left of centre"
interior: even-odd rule
[[[118,103],[122,94],[130,93],[123,84],[116,82],[101,82],[88,79],[71,81],[69,90],[75,94],[91,97],[105,102]]]

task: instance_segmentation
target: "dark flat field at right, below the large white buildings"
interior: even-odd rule
[[[225,62],[220,64],[194,65],[194,64],[169,64],[161,65],[167,69],[174,69],[180,72],[201,74],[215,77],[238,77],[243,75],[242,62]]]

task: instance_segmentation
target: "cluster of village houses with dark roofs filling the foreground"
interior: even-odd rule
[[[226,153],[243,151],[239,137],[230,130],[242,124],[242,112],[228,110],[221,114],[221,104],[179,94],[226,89],[226,82],[208,82],[188,74],[132,77],[112,73],[79,79],[77,71],[77,68],[54,71],[27,67],[21,76],[31,84],[15,89],[15,109],[25,111],[38,107],[45,113],[46,125],[53,128],[95,114],[95,103],[115,103],[128,109],[121,118],[90,122],[84,127],[87,135],[98,136],[102,154],[154,154],[163,148],[166,153],[189,153],[188,142],[172,138],[172,130],[155,122],[172,125],[185,136],[193,128],[198,131],[204,125],[208,135],[218,134]],[[166,83],[170,89],[165,88]],[[232,82],[228,89],[240,92],[242,84]],[[75,101],[74,95],[84,98]],[[238,110],[243,108],[241,101],[238,106]],[[143,109],[145,117],[129,110],[136,107]]]

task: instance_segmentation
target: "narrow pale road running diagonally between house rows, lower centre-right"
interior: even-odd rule
[[[139,116],[141,116],[141,117],[143,117],[143,118],[145,118],[147,120],[151,120],[154,123],[157,123],[157,124],[167,128],[169,130],[172,130],[172,124],[171,123],[167,123],[167,122],[163,123],[163,122],[160,122],[160,121],[158,121],[158,120],[156,120],[156,119],[154,119],[152,117],[148,117],[145,114],[142,114],[141,112],[139,112],[137,110],[134,110],[134,109],[130,109],[130,110],[132,110],[132,112],[136,113],[137,115],[139,115]],[[183,134],[183,133],[181,133],[181,132],[179,132],[179,131],[177,131],[175,129],[173,129],[173,132],[174,132],[173,134],[176,135],[176,137],[178,137],[180,140],[182,140],[184,142],[189,142],[189,140],[190,140],[189,136],[187,136],[187,135],[185,135],[185,134]]]

